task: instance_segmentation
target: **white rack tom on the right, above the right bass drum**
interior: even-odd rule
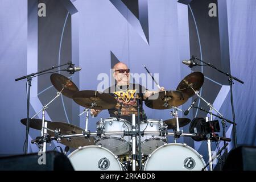
[[[160,131],[161,127],[164,127],[163,121],[159,119],[147,119],[142,121],[140,125],[141,131]],[[138,126],[137,126],[138,129]],[[166,137],[160,137],[159,135],[144,135],[141,137],[141,152],[144,155],[151,154],[156,148],[163,146],[167,143]]]

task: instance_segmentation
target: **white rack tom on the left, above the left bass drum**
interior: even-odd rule
[[[97,128],[101,127],[104,132],[131,131],[131,124],[125,119],[106,118],[97,122]],[[131,149],[130,137],[123,135],[105,135],[98,138],[96,144],[108,148],[115,155],[127,154]]]

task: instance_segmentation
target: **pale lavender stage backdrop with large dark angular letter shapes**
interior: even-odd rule
[[[200,71],[205,76],[201,96],[233,120],[228,77],[210,67],[191,69],[181,63],[192,55],[245,81],[245,84],[234,81],[233,85],[237,142],[255,145],[255,7],[254,0],[1,1],[0,62],[4,69],[0,72],[0,154],[23,153],[26,127],[20,119],[26,118],[27,113],[26,80],[15,82],[15,78],[68,61],[82,70],[74,75],[59,73],[71,78],[79,90],[97,90],[101,76],[112,77],[110,68],[118,61],[126,63],[131,73],[146,73],[143,68],[146,65],[151,73],[159,73],[159,84],[167,90],[176,90],[185,76]],[[30,117],[56,96],[50,75],[32,78]],[[158,89],[150,79],[145,86]],[[180,109],[186,110],[194,98]],[[202,100],[196,106],[209,110]],[[148,118],[172,118],[171,110],[143,107]],[[83,109],[70,98],[61,96],[49,105],[46,119],[84,128],[85,115],[78,117]],[[179,113],[180,117],[191,120],[206,115],[196,109],[187,116]],[[108,111],[89,118],[90,131],[96,130],[96,122],[101,117],[109,117]],[[42,113],[37,118],[42,118]],[[226,137],[233,139],[233,127],[226,125]],[[189,125],[183,127],[183,131],[188,133]],[[31,129],[29,139],[39,135],[40,131]],[[169,143],[173,142],[172,137],[168,139]],[[207,161],[205,142],[182,137],[177,142],[195,148]],[[229,143],[229,150],[233,144]],[[221,142],[220,147],[222,145]],[[48,149],[55,146],[64,147],[54,142]],[[216,144],[212,147],[217,151]],[[38,151],[34,144],[29,144],[28,149]]]

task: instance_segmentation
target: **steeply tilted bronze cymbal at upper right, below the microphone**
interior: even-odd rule
[[[177,86],[176,90],[179,90],[185,94],[188,95],[188,97],[192,97],[195,95],[195,92],[191,89],[191,87],[194,90],[199,90],[204,83],[204,75],[201,72],[193,72],[186,76],[180,84]]]

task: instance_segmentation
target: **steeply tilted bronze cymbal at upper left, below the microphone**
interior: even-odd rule
[[[56,90],[60,92],[64,88],[61,93],[66,97],[72,98],[73,94],[79,91],[77,86],[69,78],[59,73],[53,73],[50,78]]]

